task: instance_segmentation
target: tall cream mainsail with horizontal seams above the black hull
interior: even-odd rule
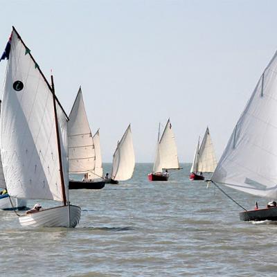
[[[68,146],[69,173],[92,172],[95,168],[96,153],[81,88],[69,114]]]

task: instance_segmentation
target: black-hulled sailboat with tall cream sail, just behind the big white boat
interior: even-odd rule
[[[80,88],[69,114],[68,127],[69,173],[82,174],[83,181],[69,180],[69,189],[104,188],[105,180],[101,172],[96,172],[96,149],[84,109],[82,89]],[[99,134],[98,134],[99,135]],[[97,141],[97,138],[95,138]],[[99,159],[99,158],[98,158]],[[99,161],[98,161],[99,163]],[[102,162],[101,162],[102,163]]]

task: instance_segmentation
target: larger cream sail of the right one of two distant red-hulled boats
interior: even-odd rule
[[[208,127],[198,153],[197,172],[214,172],[217,161]]]

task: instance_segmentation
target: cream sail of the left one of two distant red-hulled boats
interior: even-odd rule
[[[179,169],[177,145],[169,119],[157,145],[153,172],[162,172],[163,169]]]

